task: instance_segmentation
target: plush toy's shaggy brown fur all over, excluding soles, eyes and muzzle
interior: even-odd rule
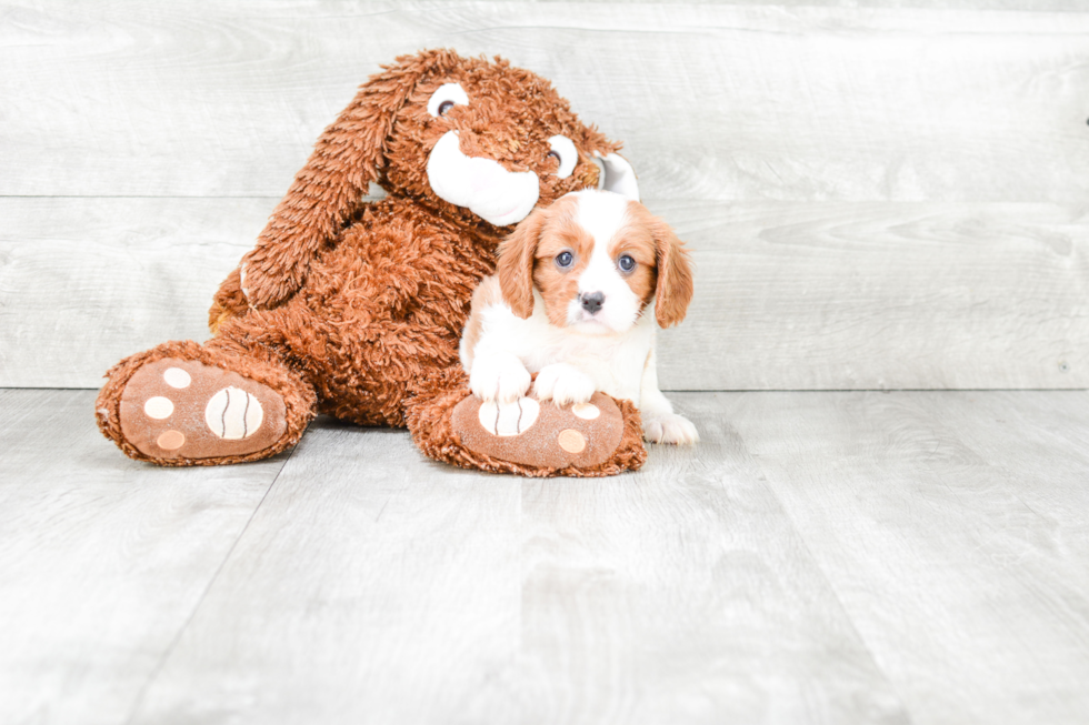
[[[432,117],[428,99],[449,82],[460,83],[472,100]],[[452,441],[428,432],[443,419],[427,401],[453,401],[462,392],[460,381],[446,396],[436,385],[454,384],[451,371],[460,370],[458,340],[472,290],[493,273],[496,249],[511,226],[494,226],[431,190],[429,154],[451,130],[459,132],[464,154],[512,172],[534,171],[541,205],[596,185],[592,157],[619,149],[582,124],[548,81],[499,59],[426,51],[398,58],[364,83],[318,139],[254,249],[220,286],[209,311],[216,338],[204,348],[170,343],[184,345],[179,354],[187,359],[213,355],[211,364],[270,381],[291,397],[294,423],[284,446],[298,440],[317,410],[369,425],[418,421],[413,435],[428,441],[426,452],[457,459]],[[548,155],[553,134],[568,137],[578,151],[565,179]],[[388,195],[364,204],[371,182]],[[133,457],[147,460],[120,437],[117,401],[136,367],[170,354],[160,346],[122,361],[99,396],[103,433]],[[638,427],[638,415],[632,420]],[[613,470],[642,462],[638,436],[633,441],[610,462]],[[501,462],[458,461],[538,475],[502,469]]]

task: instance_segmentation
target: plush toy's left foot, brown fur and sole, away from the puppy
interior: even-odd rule
[[[161,465],[267,457],[298,441],[313,406],[312,392],[298,400],[298,381],[267,362],[196,343],[130,358],[110,376],[98,401],[102,432],[131,457]]]

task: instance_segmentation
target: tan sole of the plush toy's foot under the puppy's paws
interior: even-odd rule
[[[470,396],[453,409],[451,423],[473,453],[552,470],[600,465],[623,435],[623,415],[602,393],[563,406],[532,397],[497,404]]]

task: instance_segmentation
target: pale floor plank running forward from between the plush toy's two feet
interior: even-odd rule
[[[327,419],[292,461],[132,722],[518,722],[518,479]]]

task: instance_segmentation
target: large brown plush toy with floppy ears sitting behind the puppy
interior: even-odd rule
[[[453,416],[469,395],[459,335],[500,240],[569,191],[637,197],[619,144],[548,81],[500,59],[437,50],[383,68],[318,139],[221,285],[214,336],[164,343],[107,373],[103,434],[141,461],[216,465],[283,451],[321,412],[407,425],[428,455],[466,467],[639,467],[641,426],[627,401],[598,394],[593,421],[549,410],[508,441]],[[372,184],[387,195],[366,203]]]

